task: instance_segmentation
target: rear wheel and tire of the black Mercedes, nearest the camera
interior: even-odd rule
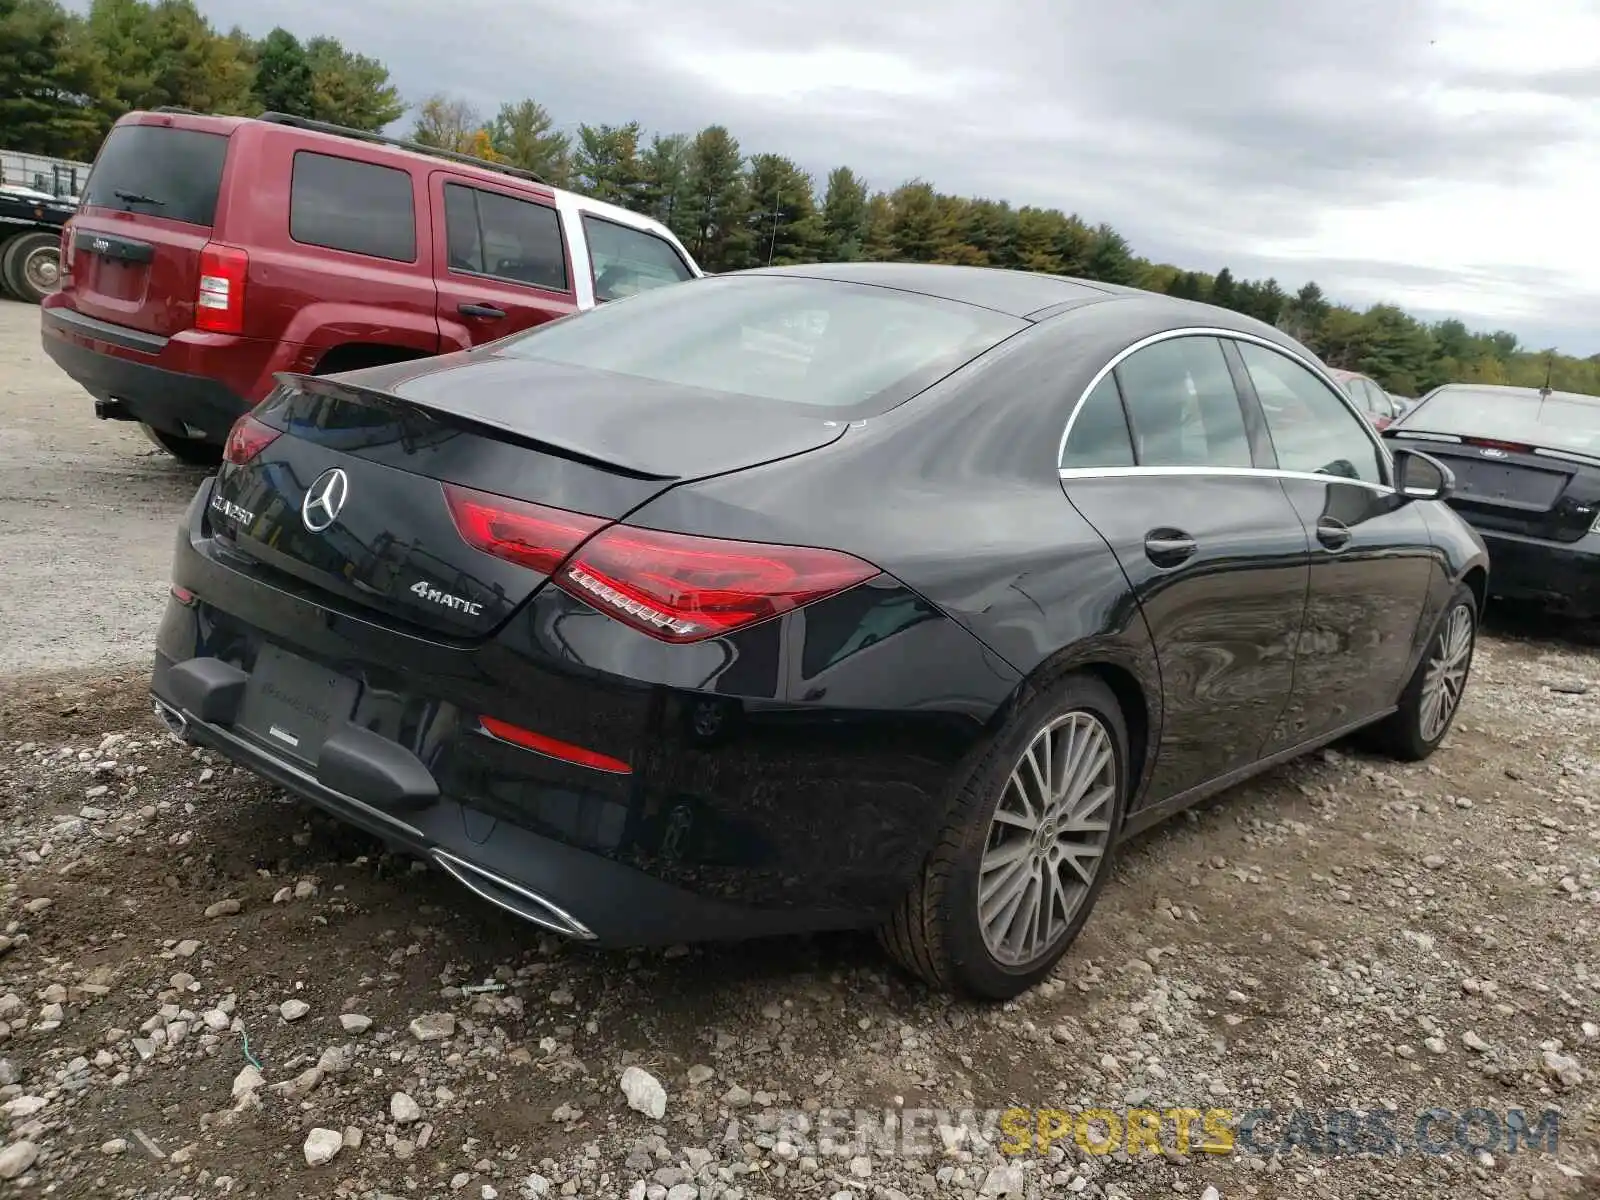
[[[1091,818],[1080,824],[1080,834],[1085,842],[1098,838],[1094,853],[1085,842],[1064,840],[1067,830],[1054,829],[1056,822],[1069,816],[1067,811],[1054,814],[1046,827],[1035,822],[1032,832],[1016,822],[1024,795],[1034,803],[1035,814],[1038,811],[1037,787],[1029,789],[1024,773],[1030,770],[1030,749],[1046,734],[1058,757],[1070,754],[1072,738],[1085,739],[1078,744],[1085,752],[1093,747],[1096,758],[1104,754],[1104,768],[1091,776],[1096,798],[1088,802],[1086,810],[1078,810],[1083,818]],[[1066,774],[1066,766],[1059,762],[1056,770]],[[1022,781],[1022,795],[1016,790],[1018,779]],[[941,990],[987,1000],[1021,995],[1054,970],[1088,920],[1110,874],[1128,786],[1128,726],[1110,690],[1088,675],[1067,675],[1035,691],[992,738],[958,784],[946,808],[947,824],[934,850],[906,899],[878,930],[878,941],[906,970]],[[1107,787],[1109,795],[1104,795]],[[1005,814],[997,819],[997,810],[1002,808]],[[1093,830],[1085,829],[1090,824],[1094,826]],[[1080,853],[1070,859],[1059,858],[1061,850],[1069,845],[1078,845]],[[1045,846],[1046,858],[1040,859],[1038,846]],[[1010,851],[1018,856],[1013,861],[1030,866],[990,866],[986,872],[986,853],[994,851],[1002,858]],[[1048,858],[1051,851],[1056,859]],[[1013,890],[1005,886],[1006,875],[1014,880],[1016,870],[1027,872],[1030,878],[1024,883],[1021,904],[1013,907],[1013,912],[1026,914],[1030,898],[1048,886],[1054,874],[1051,862],[1054,872],[1059,872],[1054,877],[1062,880],[1062,891],[1043,894],[1050,898],[1050,920],[1056,928],[1046,926],[1046,934],[1035,938],[1032,946],[1018,946],[1018,941],[1027,941],[1022,938],[1027,931],[1014,926],[1016,917],[1008,922],[1000,907],[986,934],[979,918],[979,898],[984,891],[989,896],[1010,893]],[[1075,862],[1083,866],[1082,874],[1074,872]],[[1083,875],[1088,875],[1086,882]],[[1005,931],[1008,925],[1013,926],[1006,931],[1008,936],[995,936],[995,930]]]

